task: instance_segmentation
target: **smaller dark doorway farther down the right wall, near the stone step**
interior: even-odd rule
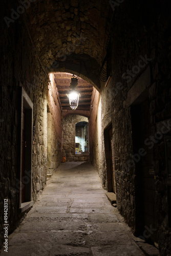
[[[116,194],[112,124],[104,130],[104,148],[106,161],[106,189],[108,192]]]

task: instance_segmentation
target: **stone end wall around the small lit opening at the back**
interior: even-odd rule
[[[67,161],[89,161],[89,155],[75,154],[75,124],[88,118],[79,115],[69,115],[62,119],[62,156]]]

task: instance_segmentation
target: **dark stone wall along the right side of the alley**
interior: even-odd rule
[[[138,7],[138,6],[137,6]],[[149,101],[149,127],[151,134],[149,136],[155,136],[158,132],[161,132],[160,127],[162,122],[168,123],[170,118],[170,98],[169,98],[169,82],[170,82],[170,70],[168,70],[168,63],[170,62],[169,49],[168,49],[168,38],[169,34],[163,40],[163,33],[167,33],[168,30],[167,22],[169,15],[167,12],[167,4],[158,3],[158,11],[162,10],[162,14],[153,12],[153,7],[147,5],[140,6],[140,8],[148,9],[149,13],[146,18],[143,18],[143,12],[137,12],[141,20],[141,23],[137,28],[134,27],[133,31],[127,31],[125,41],[118,42],[120,44],[119,49],[123,50],[125,58],[122,60],[117,57],[118,50],[116,51],[116,43],[113,44],[113,52],[115,55],[114,70],[113,70],[113,86],[116,87],[117,82],[122,82],[123,89],[119,90],[113,101],[113,112],[115,113],[113,118],[113,133],[115,143],[115,166],[116,166],[116,179],[117,179],[117,201],[118,208],[122,215],[125,217],[127,223],[135,228],[139,235],[142,234],[143,230],[139,233],[137,230],[137,218],[138,218],[138,189],[139,189],[139,177],[136,173],[134,166],[129,166],[130,154],[134,154],[133,143],[132,143],[132,123],[131,123],[131,106],[129,104],[139,104],[135,102],[138,96],[138,100],[144,100],[147,98]],[[135,6],[134,6],[135,8]],[[138,9],[138,8],[137,8]],[[131,9],[130,9],[131,10]],[[151,15],[153,13],[153,15]],[[165,14],[164,14],[165,13]],[[128,13],[129,15],[129,13]],[[159,21],[160,20],[160,21]],[[130,21],[131,22],[131,21]],[[157,24],[157,28],[154,28],[153,24]],[[135,24],[135,20],[132,20],[132,25]],[[161,25],[165,24],[165,25]],[[122,24],[124,26],[124,24]],[[132,26],[130,25],[130,28]],[[136,32],[137,31],[137,32]],[[164,32],[165,31],[165,32]],[[132,51],[132,36],[136,34],[139,39],[137,42],[137,50]],[[137,34],[138,33],[138,34]],[[151,36],[150,36],[151,35]],[[137,38],[135,38],[137,40]],[[144,41],[145,39],[145,41]],[[156,46],[158,41],[158,46]],[[126,52],[124,44],[129,46],[129,50]],[[117,45],[118,47],[118,45]],[[129,57],[129,61],[126,66],[124,60]],[[140,61],[141,60],[141,61]],[[144,65],[146,64],[146,65]],[[116,66],[117,65],[117,66]],[[147,66],[149,67],[147,68]],[[123,71],[124,67],[125,69]],[[142,66],[145,66],[144,68]],[[117,68],[116,68],[117,67]],[[119,68],[120,67],[120,68]],[[144,69],[146,69],[144,71]],[[123,73],[126,70],[132,70],[132,77],[126,79],[126,84],[121,79]],[[138,72],[139,71],[139,72]],[[137,73],[138,72],[138,73]],[[137,73],[137,74],[136,74]],[[116,74],[116,75],[115,75]],[[124,76],[125,77],[125,76]],[[140,77],[139,79],[137,79]],[[136,80],[137,79],[137,80]],[[143,83],[142,83],[143,82]],[[131,90],[132,88],[133,90]],[[136,95],[135,95],[136,94]],[[128,103],[126,106],[121,103],[122,100]],[[132,100],[131,100],[132,98]],[[122,120],[118,122],[118,120]],[[145,122],[145,121],[144,121]],[[170,129],[167,130],[167,135],[170,134]],[[149,138],[149,137],[147,137]],[[164,151],[164,134],[161,139],[153,142],[152,148],[152,170],[154,170],[155,188],[156,188],[156,219],[157,227],[156,231],[158,234],[159,249],[161,255],[166,255],[171,250],[170,248],[170,236],[168,231],[168,201],[167,201],[167,188],[166,188],[166,170],[165,170],[165,151]],[[162,151],[161,151],[162,150]],[[161,152],[163,152],[161,154]],[[122,168],[129,166],[128,168]],[[123,170],[123,172],[121,172]],[[161,200],[162,198],[162,200]],[[166,247],[169,247],[167,250]]]

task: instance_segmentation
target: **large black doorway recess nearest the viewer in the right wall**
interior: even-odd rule
[[[136,174],[136,232],[149,243],[157,243],[155,176],[148,99],[131,106],[133,151]]]

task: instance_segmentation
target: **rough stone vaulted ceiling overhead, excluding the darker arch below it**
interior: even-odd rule
[[[34,1],[27,11],[27,24],[41,60],[60,54],[89,54],[100,64],[110,30],[113,10],[108,0],[86,2]]]

